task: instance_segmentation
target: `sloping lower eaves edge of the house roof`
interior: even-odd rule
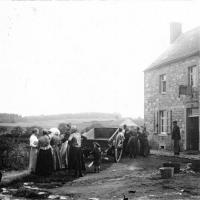
[[[149,68],[145,69],[143,72],[153,71],[153,70],[158,69],[160,67],[164,67],[166,65],[178,62],[178,61],[180,61],[182,59],[190,58],[192,56],[199,56],[199,55],[200,55],[200,51],[198,50],[198,51],[192,52],[191,54],[188,54],[186,56],[181,56],[179,58],[176,58],[176,59],[173,59],[173,60],[170,60],[170,61],[167,61],[167,62],[163,62],[163,63],[158,64],[158,65],[154,65],[152,67],[149,67]]]

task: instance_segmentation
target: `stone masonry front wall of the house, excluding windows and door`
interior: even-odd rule
[[[171,131],[166,136],[161,136],[159,131],[155,131],[155,113],[160,110],[171,112],[171,122],[178,121],[182,136],[181,148],[186,148],[186,107],[191,99],[184,95],[179,96],[179,86],[188,85],[188,67],[193,65],[199,66],[198,56],[144,73],[144,121],[150,133],[152,148],[157,149],[163,144],[164,148],[172,149]],[[159,81],[162,74],[166,74],[166,94],[160,93]]]

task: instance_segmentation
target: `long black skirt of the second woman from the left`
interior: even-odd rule
[[[36,164],[36,174],[40,176],[48,176],[54,170],[53,155],[51,149],[40,149]]]

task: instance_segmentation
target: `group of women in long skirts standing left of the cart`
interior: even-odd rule
[[[35,128],[30,137],[31,173],[48,176],[53,171],[63,168],[74,170],[75,176],[82,176],[85,169],[81,151],[81,134],[76,127],[68,128],[61,135],[57,128],[44,129],[39,137],[39,130]]]

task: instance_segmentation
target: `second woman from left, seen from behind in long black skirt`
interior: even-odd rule
[[[39,153],[36,165],[36,174],[40,176],[48,176],[53,172],[53,154],[50,146],[50,138],[48,131],[43,130],[43,136],[39,138],[38,142]]]

